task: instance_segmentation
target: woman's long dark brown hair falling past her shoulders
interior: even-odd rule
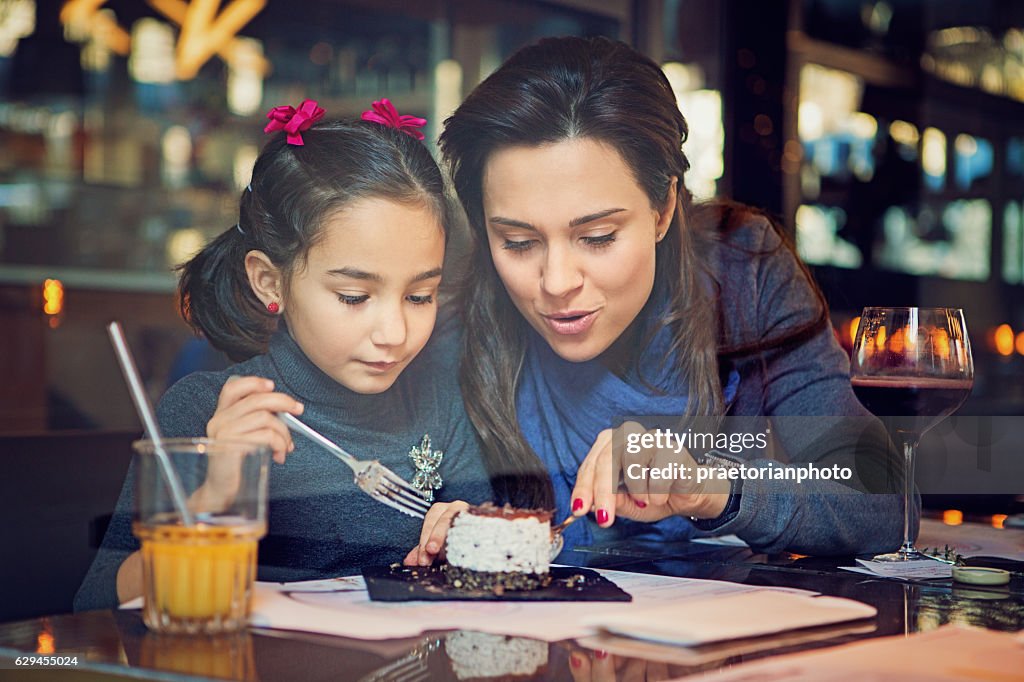
[[[472,232],[470,275],[461,299],[466,330],[460,380],[496,493],[514,504],[551,507],[553,496],[550,478],[516,417],[527,327],[487,246],[482,190],[487,160],[509,146],[589,138],[618,152],[652,208],[665,207],[673,178],[678,181],[675,216],[655,250],[654,290],[668,292],[669,311],[662,324],[672,331],[676,370],[688,384],[688,414],[721,415],[720,351],[752,352],[766,346],[755,341],[722,348],[715,294],[699,285],[705,260],[699,254],[721,233],[719,227],[742,224],[751,213],[734,204],[694,209],[683,184],[689,168],[682,152],[686,135],[686,121],[657,65],[605,38],[548,38],[519,50],[444,123],[440,150]],[[825,314],[822,300],[819,317]],[[639,356],[635,353],[634,361]]]

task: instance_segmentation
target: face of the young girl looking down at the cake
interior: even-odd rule
[[[423,204],[353,202],[329,217],[282,310],[316,367],[357,393],[390,388],[430,338],[444,232]]]

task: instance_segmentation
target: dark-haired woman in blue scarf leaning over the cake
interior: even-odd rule
[[[686,134],[657,66],[606,39],[520,50],[447,120],[440,148],[474,241],[461,382],[496,491],[558,514],[593,509],[567,547],[694,529],[769,552],[898,546],[898,496],[855,489],[898,491],[899,475],[819,290],[772,221],[692,202]],[[788,464],[732,459],[839,464],[860,482],[636,480],[626,474],[641,460],[697,462],[687,449],[631,456],[631,415],[771,417]],[[829,429],[777,419],[790,416]],[[458,508],[432,512],[408,561],[432,560]],[[665,520],[612,526],[616,515]]]

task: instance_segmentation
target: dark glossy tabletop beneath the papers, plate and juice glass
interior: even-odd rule
[[[1020,531],[1015,531],[1020,532]],[[745,549],[685,544],[658,547],[602,548],[575,552],[580,565],[666,576],[724,580],[746,585],[781,586],[848,597],[874,606],[873,623],[856,631],[840,628],[812,633],[814,641],[759,643],[757,651],[716,656],[699,664],[683,663],[669,647],[643,655],[605,651],[574,641],[522,642],[531,658],[546,665],[516,679],[666,679],[766,655],[805,650],[867,637],[933,630],[947,623],[994,630],[1024,629],[1024,577],[1007,587],[973,587],[951,581],[902,583],[839,570],[850,559],[792,555],[766,556]],[[79,679],[146,678],[182,680],[444,680],[465,679],[473,660],[453,662],[449,633],[415,639],[361,641],[291,632],[251,631],[230,637],[159,636],[146,631],[138,611],[91,611],[0,624],[0,679],[6,679],[18,656],[50,652],[77,656]],[[463,634],[463,642],[466,635]],[[487,638],[488,636],[483,636]],[[507,649],[514,649],[507,642]],[[463,647],[464,649],[465,647]],[[609,647],[612,648],[612,647]],[[485,651],[486,647],[481,649]],[[501,664],[480,653],[479,671],[492,679]],[[37,667],[38,669],[38,667]],[[514,672],[508,668],[504,679]],[[76,673],[61,671],[74,677]],[[487,675],[483,677],[486,679]]]

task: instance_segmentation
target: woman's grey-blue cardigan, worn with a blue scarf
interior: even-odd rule
[[[608,528],[599,528],[591,516],[586,527],[592,542],[659,544],[694,535],[734,534],[756,550],[769,553],[842,555],[898,547],[903,516],[901,497],[894,492],[902,489],[901,461],[890,457],[885,429],[854,395],[849,358],[831,325],[813,327],[820,305],[797,257],[770,223],[759,219],[724,235],[701,264],[710,275],[707,285],[717,294],[723,349],[765,344],[810,328],[783,345],[765,344],[768,350],[720,355],[723,381],[728,378],[736,383],[722,427],[752,435],[770,428],[771,434],[767,451],[749,447],[726,453],[726,457],[762,475],[769,469],[779,472],[811,464],[850,468],[854,477],[842,482],[748,479],[741,484],[741,495],[730,498],[722,516],[693,523],[679,517],[653,524],[618,519]],[[657,291],[652,294],[659,295],[665,296]],[[639,379],[631,374],[627,380],[640,397],[616,403],[622,411],[618,421],[604,428],[633,420],[647,428],[675,430],[678,414],[639,412],[644,410],[642,404],[653,406],[642,397],[645,389]],[[670,391],[669,396],[685,397],[686,386],[682,384],[678,393],[664,390]],[[673,416],[665,416],[669,414]],[[718,428],[703,420],[692,426],[697,432]],[[579,462],[586,452],[571,455]],[[659,461],[658,466],[667,463]],[[567,479],[570,486],[575,481],[574,470],[551,473]],[[733,485],[735,491],[738,484]]]

